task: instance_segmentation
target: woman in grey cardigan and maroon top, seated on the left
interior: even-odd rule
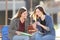
[[[18,10],[17,15],[11,20],[9,26],[10,40],[29,40],[28,36],[21,35],[21,32],[25,32],[26,18],[27,9],[22,7]]]

